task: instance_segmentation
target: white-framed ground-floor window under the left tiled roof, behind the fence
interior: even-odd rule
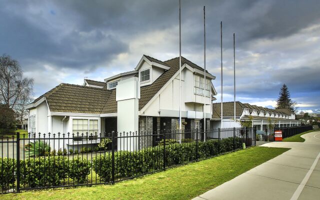
[[[73,141],[95,140],[98,132],[98,119],[72,119]]]

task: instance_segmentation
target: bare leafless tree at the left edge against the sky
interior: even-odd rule
[[[0,102],[15,109],[18,100],[32,92],[33,79],[23,77],[18,61],[9,55],[0,56]]]

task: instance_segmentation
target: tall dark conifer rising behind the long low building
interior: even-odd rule
[[[290,92],[288,87],[283,84],[280,92],[279,97],[276,99],[276,107],[275,108],[288,108],[291,111],[295,111],[296,102],[292,101],[290,98]]]

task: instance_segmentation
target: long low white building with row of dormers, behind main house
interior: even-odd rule
[[[270,109],[251,105],[249,103],[235,102],[235,119],[234,123],[234,102],[223,102],[223,128],[240,127],[239,120],[252,118],[252,125],[257,130],[266,130],[269,123],[274,127],[289,127],[300,125],[300,121],[295,119],[295,114],[287,108]],[[221,127],[221,103],[213,103],[213,114],[211,118],[211,128]]]

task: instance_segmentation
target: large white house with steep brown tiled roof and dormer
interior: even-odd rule
[[[181,71],[180,109],[185,124],[182,128],[203,128],[205,114],[206,128],[210,129],[211,102],[216,95],[211,80],[215,77],[206,72],[204,83],[203,68],[184,57]],[[68,148],[79,143],[98,143],[94,133],[156,133],[179,128],[179,57],[160,61],[143,55],[134,70],[104,81],[85,79],[83,85],[61,83],[44,93],[27,106],[28,131],[36,136],[49,132],[51,136],[58,132],[78,136],[63,141]]]

